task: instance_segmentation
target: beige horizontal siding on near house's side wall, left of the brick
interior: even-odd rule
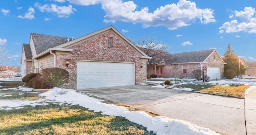
[[[41,71],[43,68],[54,67],[54,56],[52,54],[48,54],[43,58],[38,59],[38,67],[39,71]]]

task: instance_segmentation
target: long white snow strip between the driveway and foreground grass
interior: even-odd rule
[[[46,105],[46,102],[61,102],[69,105],[80,105],[94,112],[102,112],[101,114],[103,115],[125,117],[129,121],[146,127],[148,131],[153,131],[157,135],[219,135],[219,133],[211,131],[209,128],[200,127],[186,121],[164,116],[152,117],[144,111],[129,111],[126,107],[102,103],[101,101],[103,100],[89,97],[73,89],[54,87],[39,95],[45,97],[45,99],[39,99],[38,101],[1,100],[0,108],[4,106],[5,109],[17,109],[22,108],[24,105]]]

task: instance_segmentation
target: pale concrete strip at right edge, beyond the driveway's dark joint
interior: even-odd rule
[[[245,120],[247,135],[256,135],[256,88],[246,95]]]

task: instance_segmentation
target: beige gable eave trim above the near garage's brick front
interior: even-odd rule
[[[76,40],[71,40],[70,42],[66,42],[66,43],[60,44],[58,46],[55,46],[54,48],[70,48],[72,46],[80,44],[86,40],[89,40],[91,38],[94,38],[96,36],[99,36],[101,34],[109,32],[109,31],[113,32],[114,34],[116,34],[116,36],[118,36],[124,42],[126,42],[128,46],[133,48],[138,54],[141,55],[141,58],[151,59],[151,57],[147,56],[144,52],[142,52],[142,50],[140,50],[138,47],[136,47],[130,40],[128,40],[128,38],[126,38],[122,33],[120,33],[118,30],[116,30],[116,28],[114,28],[113,26],[108,26],[106,28],[102,28],[102,29],[92,32],[90,34],[84,35],[80,38],[77,38]]]

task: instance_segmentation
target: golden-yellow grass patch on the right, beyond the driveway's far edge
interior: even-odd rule
[[[238,97],[244,98],[246,89],[248,89],[249,85],[230,85],[230,86],[219,86],[214,85],[208,88],[200,89],[198,91],[205,92],[214,95],[224,95],[230,97]]]

